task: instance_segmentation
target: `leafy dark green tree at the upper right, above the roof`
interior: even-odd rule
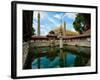
[[[90,29],[90,14],[77,14],[77,17],[73,22],[73,26],[75,30],[78,31],[80,34]]]

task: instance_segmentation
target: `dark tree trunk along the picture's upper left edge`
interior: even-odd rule
[[[27,42],[32,36],[33,11],[23,11],[23,41]]]

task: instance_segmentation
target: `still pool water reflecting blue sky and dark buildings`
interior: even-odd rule
[[[82,50],[86,49],[83,48]],[[41,53],[41,55],[38,51],[37,53],[35,53],[36,51],[33,52],[33,54],[39,54],[40,56],[35,57],[32,61],[32,69],[87,66],[87,63],[90,60],[90,58],[86,56],[87,53],[80,55],[81,53],[76,53],[67,48],[40,48],[40,50],[44,52]],[[88,50],[90,50],[90,48],[88,48]]]

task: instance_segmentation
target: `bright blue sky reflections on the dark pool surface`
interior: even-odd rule
[[[66,66],[72,67],[75,63],[76,55],[73,55],[71,53],[67,53],[66,55]],[[40,58],[40,68],[57,68],[60,67],[60,57],[56,56],[53,60],[50,60],[46,56]],[[38,67],[38,58],[36,58],[32,62],[32,69],[36,69]]]

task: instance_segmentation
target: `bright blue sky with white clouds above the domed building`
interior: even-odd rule
[[[66,30],[75,31],[73,28],[73,21],[77,13],[68,12],[48,12],[48,11],[34,11],[33,13],[33,28],[37,35],[37,14],[40,13],[40,35],[47,35],[52,29],[59,27],[63,22],[66,22]]]

